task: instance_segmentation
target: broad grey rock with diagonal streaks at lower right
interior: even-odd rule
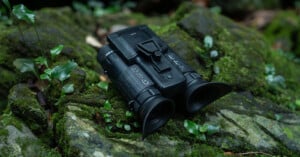
[[[272,102],[232,93],[205,111],[205,123],[221,126],[221,136],[209,139],[222,149],[300,153],[300,116]]]

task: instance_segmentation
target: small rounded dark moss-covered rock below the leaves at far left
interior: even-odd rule
[[[45,132],[48,116],[26,84],[17,84],[10,90],[8,104],[12,113],[20,117],[32,131]]]

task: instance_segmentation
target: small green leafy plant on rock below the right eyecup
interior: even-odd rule
[[[184,127],[200,141],[206,141],[206,135],[212,135],[220,131],[220,126],[210,124],[199,125],[190,120],[184,121]]]

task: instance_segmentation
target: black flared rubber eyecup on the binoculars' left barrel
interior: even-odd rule
[[[164,97],[155,97],[143,105],[144,137],[164,125],[175,111],[174,104]]]

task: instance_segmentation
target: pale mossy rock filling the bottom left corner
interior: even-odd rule
[[[61,155],[44,145],[12,113],[7,113],[3,114],[0,120],[0,156],[60,157]]]

